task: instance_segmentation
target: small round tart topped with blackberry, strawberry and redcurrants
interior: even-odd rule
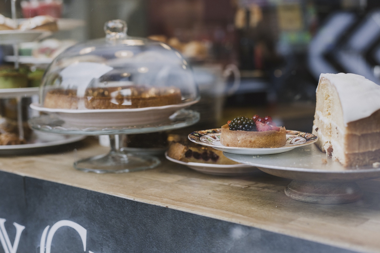
[[[286,129],[278,127],[270,116],[251,119],[239,116],[222,126],[220,143],[239,148],[279,148],[286,144]]]

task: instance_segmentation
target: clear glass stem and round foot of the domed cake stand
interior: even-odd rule
[[[125,135],[110,135],[111,151],[108,154],[93,156],[74,162],[74,168],[84,172],[125,173],[152,169],[160,164],[154,156],[130,154],[123,150]]]

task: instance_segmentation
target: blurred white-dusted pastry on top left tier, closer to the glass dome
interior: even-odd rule
[[[58,31],[57,21],[54,17],[49,15],[35,16],[30,19],[24,20],[19,25],[22,31],[27,30],[45,30],[45,31]]]

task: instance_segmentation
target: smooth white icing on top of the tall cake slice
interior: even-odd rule
[[[380,85],[356,74],[321,74],[319,79],[323,77],[337,90],[345,126],[380,109]]]

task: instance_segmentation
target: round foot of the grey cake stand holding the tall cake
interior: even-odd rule
[[[320,182],[293,180],[285,188],[293,200],[313,204],[344,204],[359,200],[362,190],[355,182]]]

